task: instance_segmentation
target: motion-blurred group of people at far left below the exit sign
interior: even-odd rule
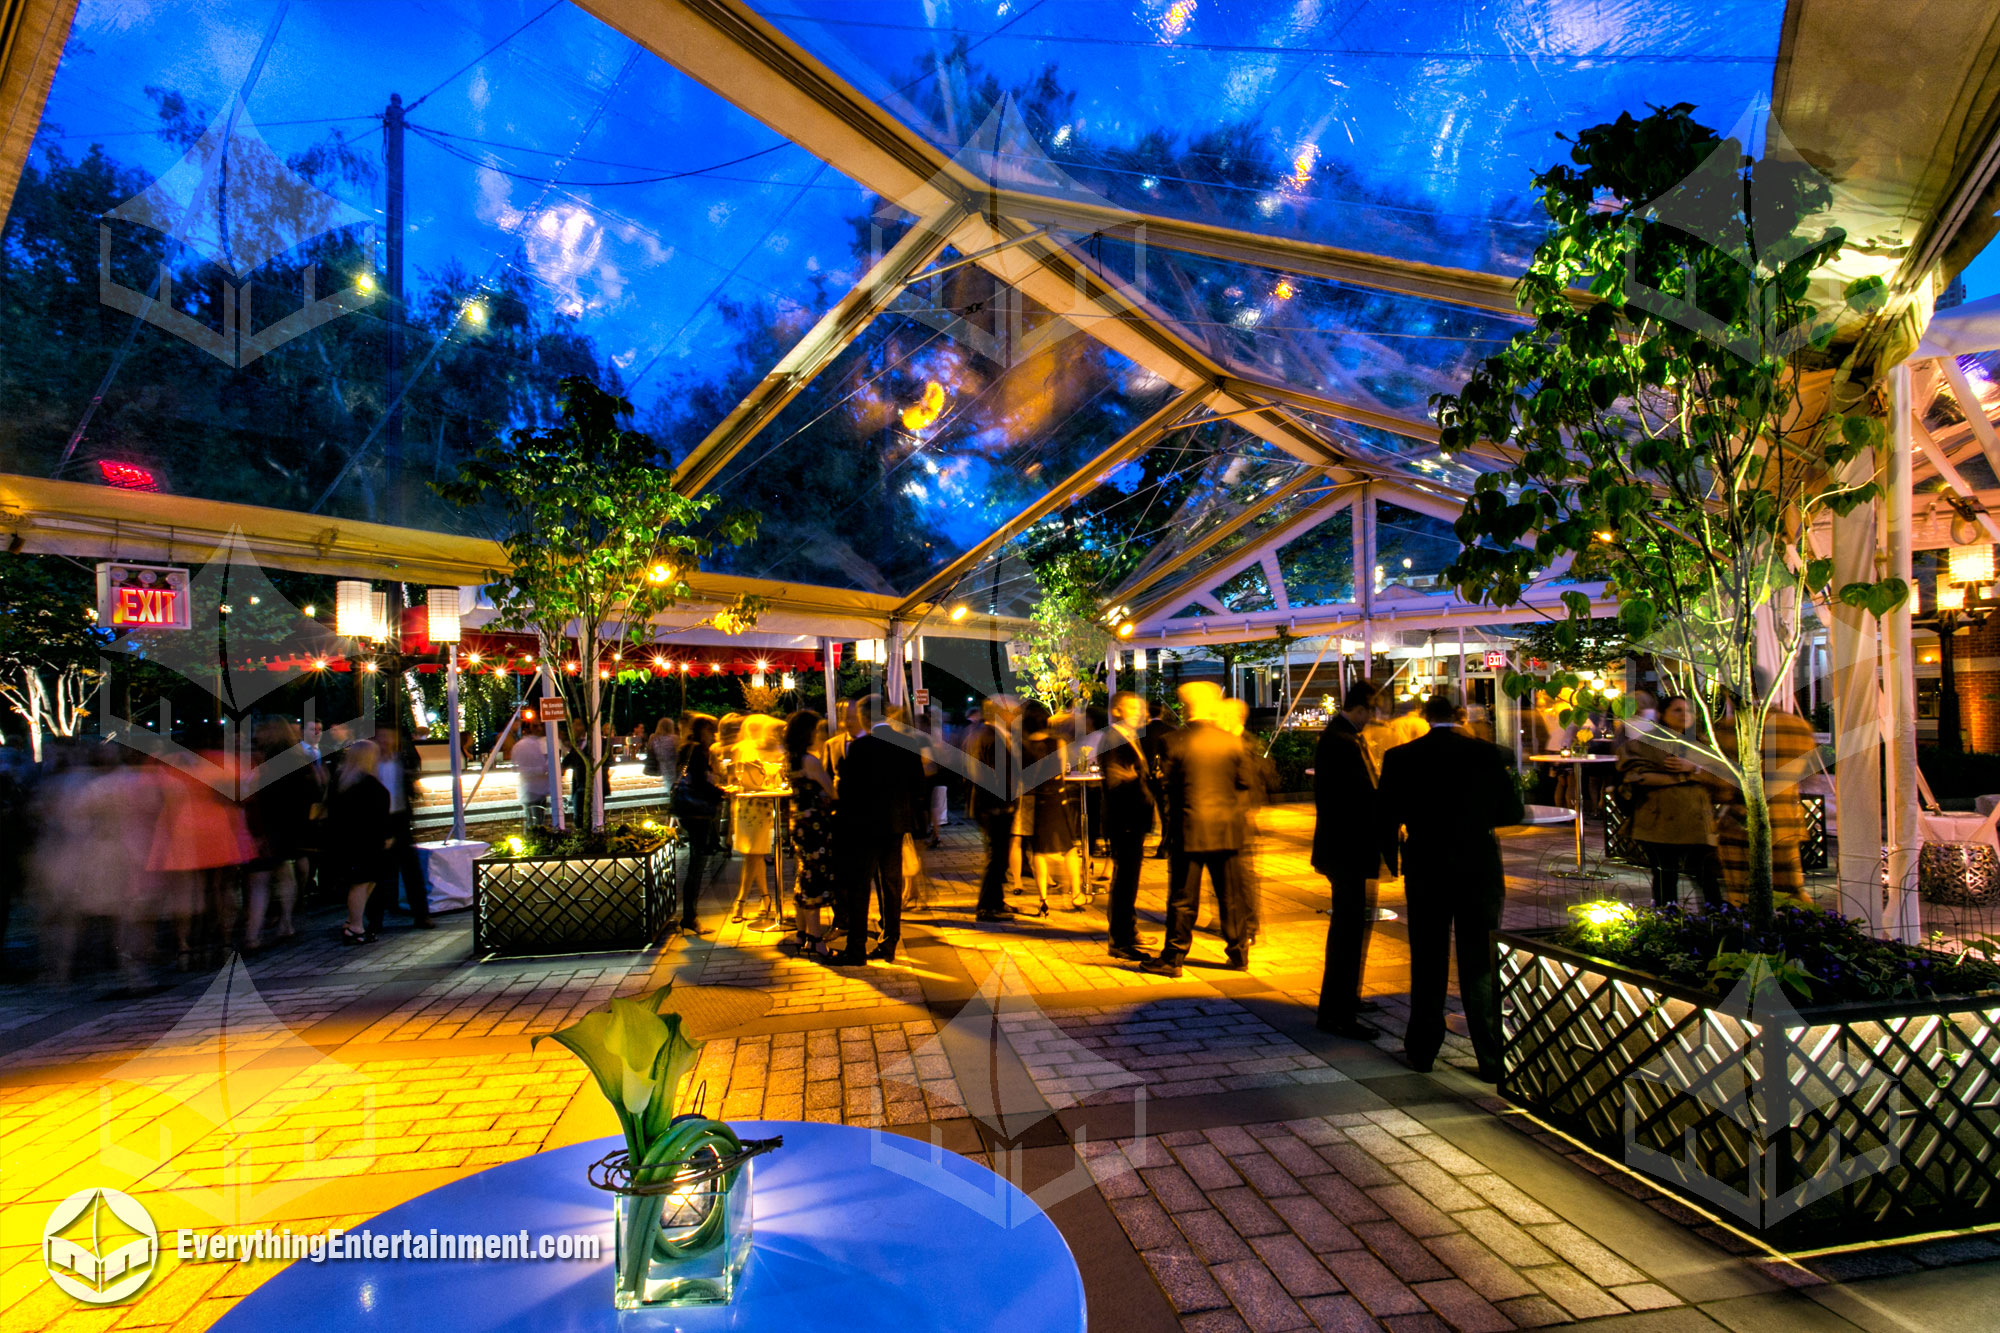
[[[346,903],[350,945],[376,939],[404,893],[428,929],[414,783],[394,727],[354,739],[266,719],[246,751],[218,735],[176,761],[56,739],[40,765],[0,773],[6,909],[24,901],[50,981],[102,945],[134,991],[294,939],[304,895]]]

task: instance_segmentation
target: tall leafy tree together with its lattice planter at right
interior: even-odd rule
[[[1688,757],[1742,793],[1748,891],[1710,913],[1590,903],[1568,931],[1500,933],[1500,1089],[1772,1239],[1992,1221],[1982,1015],[2000,971],[1980,939],[1956,957],[1880,941],[1772,893],[1770,789],[1796,777],[1770,771],[1766,731],[1802,612],[1834,598],[1880,616],[1908,594],[1836,586],[1812,544],[1816,518],[1878,492],[1850,464],[1884,426],[1862,362],[1830,348],[1882,284],[1828,278],[1844,238],[1810,226],[1830,194],[1816,172],[1746,156],[1686,104],[1588,128],[1570,158],[1536,176],[1550,228],[1520,282],[1532,328],[1432,400],[1446,452],[1506,462],[1458,518],[1448,578],[1502,606],[1558,560],[1604,580],[1620,636],[1696,705]],[[1556,658],[1586,646],[1592,610],[1582,590],[1562,600]],[[1634,713],[1576,671],[1508,689],[1566,699],[1566,723]]]

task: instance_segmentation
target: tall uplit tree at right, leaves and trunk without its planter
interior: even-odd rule
[[[1802,640],[1800,612],[1834,594],[1882,614],[1900,580],[1830,588],[1814,518],[1878,492],[1842,468],[1882,422],[1802,420],[1800,374],[1826,364],[1834,318],[1880,304],[1880,284],[1828,290],[1840,232],[1814,232],[1828,184],[1796,160],[1754,160],[1692,106],[1582,130],[1574,166],[1536,176],[1550,228],[1520,280],[1534,328],[1432,400],[1448,452],[1498,444],[1514,466],[1480,476],[1458,518],[1448,578],[1508,606],[1558,556],[1588,556],[1622,632],[1696,701],[1708,761],[1744,791],[1750,901],[1770,921],[1770,815],[1762,739]],[[1584,286],[1594,300],[1576,304]],[[1590,598],[1562,596],[1558,648],[1578,646]],[[1760,618],[1778,644],[1756,673]],[[1558,652],[1560,656],[1562,652]],[[1776,685],[1774,685],[1776,681]],[[1576,691],[1574,673],[1510,679],[1514,693]],[[1736,745],[1716,743],[1710,701],[1738,701]],[[1632,701],[1574,697],[1630,715]]]

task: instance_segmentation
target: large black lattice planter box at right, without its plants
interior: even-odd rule
[[[2000,1223],[2000,995],[1714,995],[1494,935],[1500,1093],[1778,1247]]]

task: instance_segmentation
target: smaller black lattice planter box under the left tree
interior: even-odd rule
[[[474,863],[472,953],[644,949],[674,915],[678,843],[644,857],[484,857]]]

